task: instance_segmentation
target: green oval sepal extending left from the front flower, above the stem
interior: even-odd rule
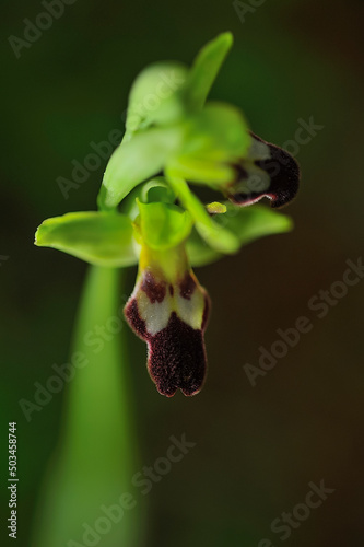
[[[97,266],[138,263],[132,223],[124,214],[87,211],[47,219],[35,234],[35,244],[63,251]]]

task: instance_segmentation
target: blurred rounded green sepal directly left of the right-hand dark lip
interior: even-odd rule
[[[184,143],[169,167],[177,176],[220,189],[234,179],[234,164],[247,155],[250,143],[249,128],[238,108],[208,103],[187,121]]]

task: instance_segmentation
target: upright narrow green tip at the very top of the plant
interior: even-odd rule
[[[202,108],[232,45],[233,35],[223,33],[209,42],[198,54],[183,90],[184,100],[190,109]]]

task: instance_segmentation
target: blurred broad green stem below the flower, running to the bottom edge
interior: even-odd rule
[[[118,274],[91,267],[87,275],[70,360],[74,374],[60,446],[44,484],[35,547],[79,547],[91,545],[91,538],[99,547],[141,545],[142,508],[132,496],[138,459]],[[114,508],[118,522],[107,513],[111,505],[119,508]]]

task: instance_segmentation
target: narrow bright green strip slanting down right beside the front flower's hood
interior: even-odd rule
[[[196,229],[201,237],[220,253],[236,253],[239,248],[238,237],[213,221],[201,201],[191,193],[188,184],[175,176],[167,176],[167,179],[181,205],[195,220]]]

